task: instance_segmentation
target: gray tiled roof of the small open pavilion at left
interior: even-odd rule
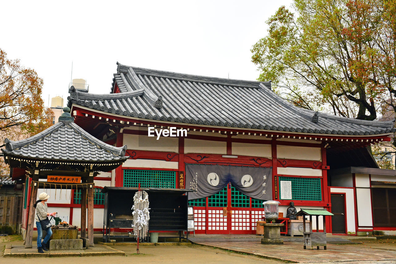
[[[126,146],[114,147],[89,135],[74,122],[58,122],[20,141],[4,141],[4,154],[22,158],[57,161],[122,161]]]

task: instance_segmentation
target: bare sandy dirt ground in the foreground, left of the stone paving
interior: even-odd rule
[[[20,236],[6,236],[0,237],[0,263],[2,263],[2,256],[6,244],[22,245],[23,241]],[[276,264],[282,263],[280,260],[269,260],[253,255],[243,255],[234,252],[227,252],[222,249],[214,249],[202,245],[150,245],[140,246],[140,253],[136,254],[136,245],[125,246],[117,245],[112,246],[115,249],[125,252],[125,256],[84,256],[84,257],[54,257],[51,262],[59,263],[73,263],[73,264],[86,264],[88,263],[112,263],[112,264],[130,264],[133,262],[139,263],[190,263],[190,264],[211,264],[211,263],[227,263],[227,264]],[[32,263],[33,258],[7,258],[8,263],[24,264]],[[43,261],[44,259],[40,260]]]

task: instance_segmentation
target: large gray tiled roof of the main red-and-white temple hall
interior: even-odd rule
[[[70,90],[69,104],[124,116],[220,127],[339,135],[395,131],[393,122],[364,121],[298,108],[276,95],[270,82],[212,78],[118,64],[120,93]],[[155,107],[156,101],[162,107]]]

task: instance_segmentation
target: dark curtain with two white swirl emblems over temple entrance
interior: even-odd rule
[[[186,164],[186,188],[196,190],[189,200],[216,194],[228,182],[249,197],[272,200],[272,168]]]

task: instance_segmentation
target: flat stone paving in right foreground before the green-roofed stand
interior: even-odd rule
[[[256,241],[243,242],[199,242],[200,245],[218,247],[240,253],[260,255],[291,262],[337,262],[348,263],[396,263],[396,251],[386,249],[366,248],[361,245],[327,244],[327,250],[303,249],[301,242],[284,242],[284,245],[262,245]],[[378,262],[378,261],[392,262]],[[365,262],[375,261],[375,262]]]

